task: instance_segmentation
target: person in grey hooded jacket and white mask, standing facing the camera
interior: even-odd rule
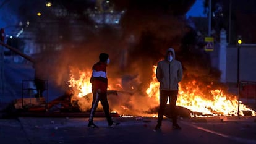
[[[158,110],[158,123],[155,130],[161,128],[164,109],[169,98],[173,129],[181,129],[177,124],[176,101],[179,91],[179,82],[182,80],[182,64],[175,59],[175,51],[169,48],[164,60],[158,62],[156,78],[160,82],[160,106]]]

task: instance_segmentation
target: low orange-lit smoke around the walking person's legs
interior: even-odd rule
[[[92,103],[92,93],[81,98],[75,98],[75,103],[82,112],[89,112]],[[111,111],[126,116],[152,116],[158,111],[158,100],[149,98],[141,93],[128,93],[126,91],[108,91],[108,103]],[[98,111],[102,111],[101,104]]]

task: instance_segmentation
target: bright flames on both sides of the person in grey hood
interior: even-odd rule
[[[153,80],[147,89],[148,96],[159,96],[159,82],[156,80],[156,66],[153,66]],[[237,116],[238,100],[234,95],[224,94],[223,90],[210,90],[208,93],[202,93],[202,88],[198,88],[198,82],[193,80],[188,83],[179,83],[179,96],[177,106],[183,106],[194,112],[202,114],[211,114],[213,116]],[[207,85],[206,88],[211,88]],[[240,104],[239,114],[242,111],[251,111],[252,116],[256,116],[255,111]]]

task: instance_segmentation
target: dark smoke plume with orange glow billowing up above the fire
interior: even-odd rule
[[[70,15],[58,17],[59,22],[56,23],[50,23],[56,17],[49,17],[49,21],[42,17],[37,21],[41,22],[40,25],[33,25],[36,43],[48,42],[41,44],[43,53],[38,57],[40,68],[37,70],[42,77],[65,90],[70,78],[70,67],[82,71],[92,70],[93,64],[98,62],[98,55],[108,53],[111,60],[107,67],[109,85],[114,86],[112,90],[123,91],[118,93],[119,101],[115,101],[117,104],[114,104],[114,108],[139,114],[149,112],[158,105],[158,101],[148,98],[145,91],[151,82],[153,66],[164,59],[169,47],[177,52],[177,59],[182,61],[186,77],[208,74],[207,70],[202,69],[204,63],[200,54],[195,55],[190,49],[185,49],[189,52],[183,54],[181,49],[182,37],[186,33],[185,14],[195,1],[114,2],[116,9],[124,10],[120,25],[100,25],[96,28],[95,23],[81,15],[79,18]],[[70,3],[62,4],[66,7],[65,4]],[[70,7],[74,6],[66,7],[67,11]],[[25,15],[30,14],[27,9],[20,11]],[[72,9],[69,12],[75,11]],[[36,22],[36,19],[33,20]],[[87,99],[80,100],[81,103],[85,101]],[[120,103],[125,103],[122,110]],[[140,109],[135,108],[138,106]],[[87,106],[81,108],[83,111],[88,109]]]

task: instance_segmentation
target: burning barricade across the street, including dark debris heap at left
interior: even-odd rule
[[[159,83],[153,75],[146,91],[125,91],[121,80],[109,80],[109,109],[115,116],[157,117],[159,104]],[[70,70],[70,80],[66,93],[41,106],[29,106],[28,111],[59,111],[59,112],[89,112],[92,104],[90,70]],[[225,88],[216,87],[218,83],[203,83],[199,80],[182,80],[179,83],[177,112],[181,117],[203,116],[256,116],[253,109],[238,103],[236,95],[231,95]],[[130,86],[134,88],[133,85]],[[114,90],[113,90],[114,89]],[[166,106],[166,108],[169,104]],[[239,106],[239,112],[238,112]],[[99,104],[98,112],[102,112]],[[85,116],[85,115],[83,115]],[[171,117],[167,111],[164,116]]]

